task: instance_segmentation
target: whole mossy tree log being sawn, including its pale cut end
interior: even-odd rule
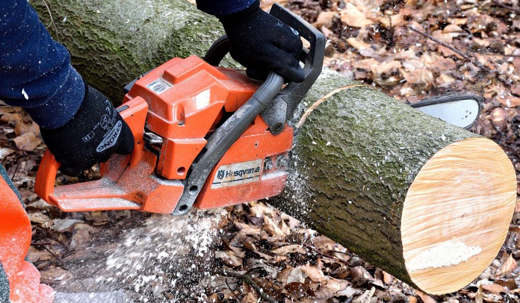
[[[202,56],[223,34],[184,0],[33,5],[114,102],[139,74]],[[515,172],[497,144],[329,70],[295,117],[291,178],[275,206],[431,294],[457,291],[495,258],[516,201]]]

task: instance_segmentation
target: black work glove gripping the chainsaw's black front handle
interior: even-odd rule
[[[218,19],[231,41],[229,54],[244,65],[249,77],[263,80],[268,71],[274,71],[286,81],[305,80],[298,62],[302,56],[300,34],[263,11],[258,0]]]

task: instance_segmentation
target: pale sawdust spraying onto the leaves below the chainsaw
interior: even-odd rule
[[[55,289],[72,292],[69,284],[77,282],[85,287],[84,299],[103,292],[120,294],[118,299],[107,297],[105,302],[203,301],[204,286],[199,281],[211,279],[214,253],[210,247],[219,237],[218,223],[226,214],[219,208],[192,210],[180,217],[152,215],[124,231],[104,258],[88,260],[88,267],[96,268],[90,279],[64,279],[62,287]],[[81,298],[76,301],[85,302]]]

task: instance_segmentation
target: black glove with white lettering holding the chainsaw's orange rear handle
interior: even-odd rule
[[[114,153],[129,154],[134,149],[132,131],[112,103],[85,84],[85,98],[67,124],[40,128],[47,148],[61,163],[60,171],[77,176]]]

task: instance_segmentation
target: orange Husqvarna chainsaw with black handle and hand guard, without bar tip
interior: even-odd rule
[[[309,42],[302,83],[270,72],[259,84],[218,67],[230,49],[218,39],[203,59],[173,58],[125,87],[117,109],[134,135],[130,155],[113,155],[99,180],[55,187],[60,164],[48,150],[34,189],[64,212],[137,209],[173,215],[281,193],[293,128],[287,121],[323,65],[325,37],[289,10],[270,14]]]

